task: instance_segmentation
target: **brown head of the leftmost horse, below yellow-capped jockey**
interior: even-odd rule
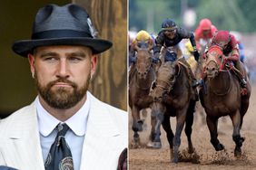
[[[150,52],[152,47],[145,42],[139,42],[135,46],[135,49],[137,51],[135,68],[138,73],[138,78],[145,80],[153,66],[153,56]]]

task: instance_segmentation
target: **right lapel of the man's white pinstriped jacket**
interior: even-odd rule
[[[122,140],[109,109],[91,94],[80,169],[116,169]],[[122,147],[122,146],[120,146]]]

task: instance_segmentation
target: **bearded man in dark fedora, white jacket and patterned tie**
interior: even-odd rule
[[[38,96],[0,121],[0,165],[26,170],[126,165],[121,155],[127,153],[127,113],[87,91],[98,54],[111,46],[95,37],[84,8],[39,9],[32,39],[13,44],[14,52],[28,58]]]

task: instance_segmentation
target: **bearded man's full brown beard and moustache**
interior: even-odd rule
[[[88,79],[84,83],[84,86],[80,89],[78,89],[76,83],[65,78],[59,78],[58,80],[49,82],[46,86],[42,86],[37,79],[36,72],[34,73],[34,81],[40,96],[50,107],[54,109],[71,109],[84,98],[90,84],[90,73]],[[73,90],[67,90],[62,87],[53,90],[52,87],[57,82],[67,83],[73,88]]]

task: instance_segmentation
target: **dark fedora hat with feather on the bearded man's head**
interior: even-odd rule
[[[84,45],[93,53],[112,47],[112,42],[98,39],[89,14],[79,5],[45,5],[34,19],[31,40],[14,42],[13,51],[27,57],[34,48],[49,45]]]

